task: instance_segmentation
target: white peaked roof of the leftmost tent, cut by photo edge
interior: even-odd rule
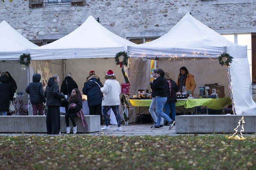
[[[6,21],[0,23],[0,59],[18,60],[20,55],[28,53],[28,48],[38,47],[18,33]]]

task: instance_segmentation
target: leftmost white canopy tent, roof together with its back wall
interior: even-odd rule
[[[21,65],[17,61],[21,54],[28,53],[29,48],[38,46],[23,37],[6,21],[0,23],[0,46],[0,60],[7,60],[0,64],[0,71],[9,71],[17,83],[17,91],[25,92],[25,88],[29,84],[29,69],[27,71],[17,71],[14,68],[21,69]],[[28,81],[24,81],[24,79]],[[27,93],[24,94],[23,99],[27,99]]]

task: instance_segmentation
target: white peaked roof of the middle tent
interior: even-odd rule
[[[50,44],[30,49],[33,60],[114,57],[134,45],[99,24],[89,16],[70,34]]]

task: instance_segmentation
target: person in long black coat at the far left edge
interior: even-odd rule
[[[14,90],[11,79],[2,73],[0,77],[0,115],[7,115],[9,103],[13,100]]]

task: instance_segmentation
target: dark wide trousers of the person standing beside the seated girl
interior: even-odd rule
[[[57,135],[60,133],[60,129],[61,129],[60,107],[47,106],[46,129],[47,129],[47,134]]]

